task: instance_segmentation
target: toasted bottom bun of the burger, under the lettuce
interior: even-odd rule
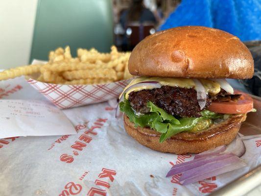
[[[160,133],[147,127],[134,127],[134,123],[124,114],[126,132],[143,146],[160,152],[175,154],[200,153],[211,148],[231,143],[237,136],[241,122],[245,121],[246,114],[234,115],[222,123],[215,124],[209,129],[198,132],[178,133],[165,142],[159,142]]]

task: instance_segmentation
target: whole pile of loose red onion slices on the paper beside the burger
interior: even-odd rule
[[[173,166],[166,177],[182,173],[180,183],[190,184],[199,180],[230,172],[246,164],[239,158],[245,153],[245,145],[237,135],[234,147],[220,146],[197,154],[193,160]]]

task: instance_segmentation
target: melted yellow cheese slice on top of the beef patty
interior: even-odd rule
[[[193,88],[195,89],[195,83],[192,79],[189,78],[173,78],[173,77],[136,77],[134,78],[128,86],[125,87],[124,91],[129,88],[130,86],[140,83],[140,82],[151,82],[151,81],[156,81],[159,82],[163,86],[173,86],[173,87],[181,87],[181,88]],[[207,94],[210,95],[216,95],[220,91],[220,85],[213,81],[213,80],[208,80],[208,79],[200,79],[202,85],[206,89]],[[155,87],[150,86],[149,84],[144,84],[144,86],[140,87],[133,87],[129,89],[126,93],[125,98],[129,98],[130,92],[137,92],[141,91],[144,89],[153,89]],[[123,91],[123,92],[124,92]],[[122,96],[122,93],[120,97]]]

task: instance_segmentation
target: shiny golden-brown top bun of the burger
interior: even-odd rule
[[[139,76],[251,78],[253,57],[234,35],[203,26],[156,32],[132,51],[129,72]]]

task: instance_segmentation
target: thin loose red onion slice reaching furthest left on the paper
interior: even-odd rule
[[[192,170],[193,168],[198,168],[203,165],[215,162],[215,161],[220,161],[229,157],[235,156],[234,154],[218,154],[214,156],[209,156],[209,157],[201,157],[198,159],[194,159],[189,162],[185,162],[182,164],[178,164],[173,166],[170,171],[166,174],[166,177],[171,176],[171,175],[176,175],[179,173],[187,172],[189,170]],[[212,176],[210,176],[212,177]]]

